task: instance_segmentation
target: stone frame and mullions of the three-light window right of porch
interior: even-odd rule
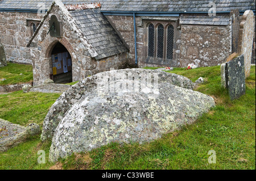
[[[157,45],[158,45],[158,26],[160,24],[163,25],[164,27],[164,49],[163,49],[163,60],[172,60],[174,57],[172,56],[172,59],[167,59],[167,32],[168,32],[168,27],[171,25],[172,27],[174,27],[174,41],[173,41],[173,45],[172,48],[174,49],[175,47],[175,39],[176,36],[178,35],[178,30],[179,30],[179,22],[177,22],[177,20],[171,20],[171,21],[166,21],[166,20],[144,20],[144,23],[146,24],[146,52],[144,54],[145,57],[149,57],[148,56],[148,26],[150,26],[150,24],[153,24],[154,26],[154,33],[155,33],[155,37],[154,37],[154,57],[150,57],[150,58],[156,58],[157,57]],[[173,50],[174,51],[174,50]]]

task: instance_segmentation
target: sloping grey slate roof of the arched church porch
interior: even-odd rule
[[[96,60],[127,52],[125,45],[100,9],[69,11],[86,40],[96,50]]]

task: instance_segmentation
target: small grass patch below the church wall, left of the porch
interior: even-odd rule
[[[0,79],[3,78],[6,80],[0,81],[0,86],[31,82],[33,81],[32,65],[8,63],[7,66],[0,68]]]

